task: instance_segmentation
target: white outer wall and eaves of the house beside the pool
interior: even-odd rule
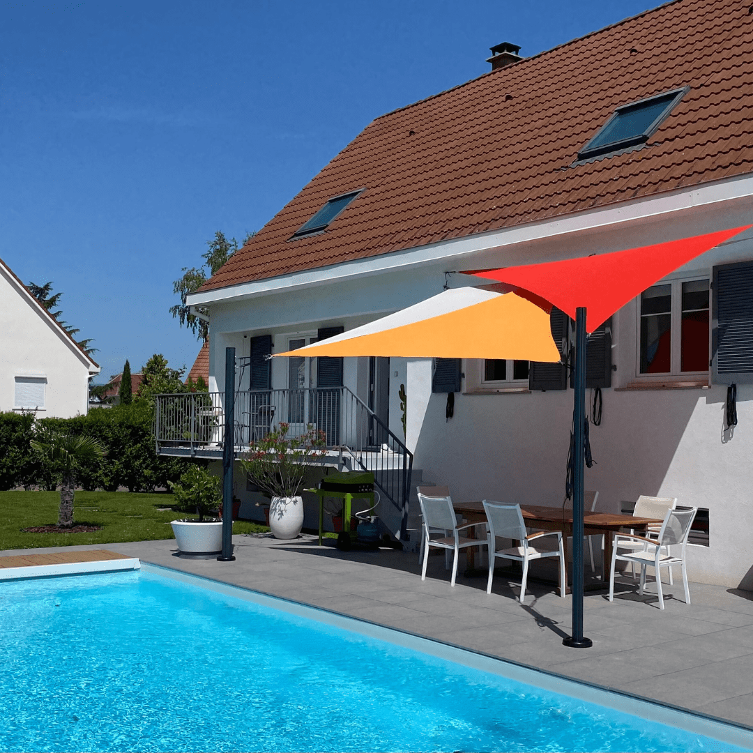
[[[291,333],[316,334],[319,327],[327,325],[354,328],[437,294],[446,282],[458,285],[460,276],[446,279],[444,274],[453,269],[614,251],[751,221],[749,199],[735,200],[724,208],[714,203],[701,206],[700,193],[696,193],[676,199],[676,206],[672,206],[675,199],[664,197],[661,206],[651,205],[654,209],[646,210],[648,214],[642,217],[640,211],[651,202],[643,202],[643,209],[623,205],[590,213],[588,221],[551,221],[546,232],[513,229],[508,233],[512,239],[509,246],[500,241],[494,247],[481,248],[483,239],[473,239],[479,250],[468,252],[464,249],[471,240],[461,239],[454,255],[444,244],[434,255],[416,252],[415,261],[410,261],[412,252],[404,256],[398,252],[394,258],[380,258],[381,269],[358,267],[362,273],[354,275],[356,267],[343,264],[335,281],[322,278],[289,290],[246,291],[236,300],[214,302],[212,373],[218,375],[218,383],[224,380],[227,345],[240,348],[252,335],[271,333],[275,351],[282,352]],[[741,237],[687,264],[669,279],[710,278],[715,264],[753,260],[753,233]],[[401,258],[407,260],[405,264],[395,261]],[[392,267],[391,259],[395,261]],[[325,273],[330,270],[322,275]],[[612,387],[602,390],[602,423],[591,427],[596,463],[586,471],[586,486],[599,490],[602,511],[618,512],[623,502],[634,502],[642,494],[676,496],[679,505],[708,508],[709,547],[691,545],[691,579],[753,590],[753,547],[749,543],[753,533],[753,385],[738,386],[739,425],[730,436],[723,432],[725,386],[662,386],[672,380],[638,375],[638,328],[633,300],[612,320],[612,360],[617,370]],[[366,397],[365,361],[346,359],[345,367],[346,385],[361,398]],[[273,361],[274,387],[287,386],[286,368],[285,359]],[[404,384],[406,441],[415,453],[414,468],[422,469],[425,480],[447,483],[460,500],[561,504],[572,390],[484,392],[474,377],[480,373],[480,364],[465,362],[463,370],[463,393],[456,395],[455,415],[448,422],[447,395],[431,393],[431,361],[392,359],[390,428],[403,437],[398,391]],[[675,382],[679,379],[680,375]]]

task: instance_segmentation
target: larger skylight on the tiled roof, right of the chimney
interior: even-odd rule
[[[579,160],[644,144],[690,87],[630,102],[618,107],[599,133],[578,152]]]

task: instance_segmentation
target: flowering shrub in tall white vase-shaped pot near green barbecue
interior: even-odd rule
[[[303,528],[303,499],[298,492],[306,471],[327,453],[324,431],[311,424],[288,436],[281,422],[241,458],[248,478],[271,498],[270,529],[275,538],[296,538]]]

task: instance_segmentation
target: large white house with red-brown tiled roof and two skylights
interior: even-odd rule
[[[255,356],[241,389],[317,386],[316,363],[267,370],[260,354],[474,284],[459,271],[753,224],[748,5],[675,0],[529,59],[500,45],[491,72],[374,120],[188,297],[211,317],[210,389],[223,389],[227,346]],[[569,322],[552,321],[567,358]],[[650,288],[593,342],[588,386],[602,410],[586,488],[599,509],[642,494],[703,508],[709,537],[691,547],[691,578],[753,589],[753,233]],[[566,366],[458,365],[447,381],[430,360],[354,358],[327,376],[399,437],[404,388],[414,468],[454,498],[559,505]]]

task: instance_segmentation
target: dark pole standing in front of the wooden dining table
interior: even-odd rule
[[[572,636],[562,643],[572,648],[590,648],[583,637],[583,486],[586,419],[586,309],[575,309],[575,407],[573,409],[573,495],[572,495]],[[567,563],[565,565],[567,567]]]

